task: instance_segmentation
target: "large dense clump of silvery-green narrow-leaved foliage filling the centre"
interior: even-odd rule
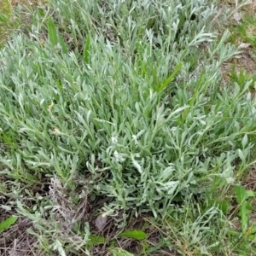
[[[241,158],[255,118],[241,87],[218,88],[220,64],[237,52],[205,26],[215,13],[203,0],[53,1],[28,37],[0,52],[0,138],[12,148],[3,166],[27,183],[57,175],[73,190],[79,172],[108,207],[154,216],[206,192]],[[49,14],[69,38],[67,53],[39,44]],[[79,42],[90,42],[88,58],[73,49]]]

